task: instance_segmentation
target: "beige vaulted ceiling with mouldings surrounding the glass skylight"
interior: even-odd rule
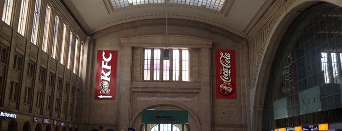
[[[157,3],[147,0],[149,1],[147,4],[146,2],[145,4],[129,3],[124,7],[114,7],[114,0],[62,1],[88,35],[125,22],[170,18],[211,24],[244,38],[274,2],[274,0],[225,0],[221,2],[222,8],[213,9],[205,4],[182,4],[175,0],[170,0],[168,3],[164,0],[162,0],[164,2],[160,0],[161,2]]]

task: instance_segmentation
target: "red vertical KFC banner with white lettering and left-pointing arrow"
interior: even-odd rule
[[[98,50],[95,100],[115,100],[117,50]]]

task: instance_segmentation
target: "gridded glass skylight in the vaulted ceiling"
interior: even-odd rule
[[[199,7],[205,7],[208,9],[221,11],[225,0],[170,0],[169,3],[179,3],[194,5]],[[139,4],[153,4],[153,3],[165,3],[165,0],[111,0],[114,9],[139,5]]]

